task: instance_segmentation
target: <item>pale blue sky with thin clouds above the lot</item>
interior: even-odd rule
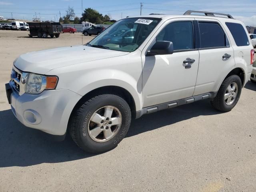
[[[142,14],[183,14],[186,10],[205,10],[229,13],[242,20],[246,25],[256,25],[255,0],[83,0],[84,8],[94,8],[103,15],[119,20],[121,17],[138,16],[140,2],[143,3]],[[80,17],[82,0],[0,0],[0,16],[32,20],[41,16],[41,20],[54,20],[64,16],[68,6],[73,7],[76,16]],[[60,11],[60,13],[59,13]]]

